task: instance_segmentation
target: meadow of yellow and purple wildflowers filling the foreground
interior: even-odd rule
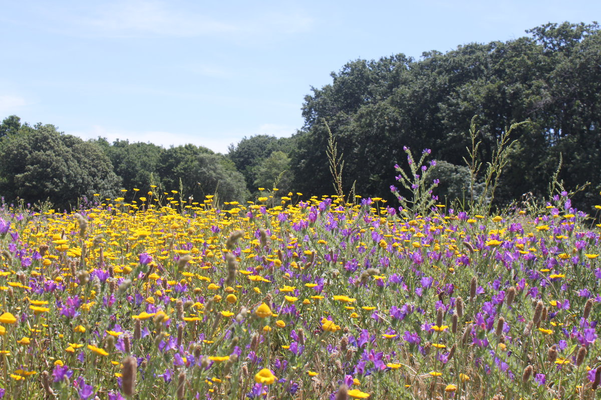
[[[0,210],[0,398],[599,398],[601,225],[565,196],[419,216],[155,190]]]

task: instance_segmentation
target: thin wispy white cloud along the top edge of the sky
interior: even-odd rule
[[[55,12],[54,18],[62,20],[64,28],[78,36],[118,38],[212,36],[234,40],[273,39],[282,34],[306,32],[314,25],[314,19],[304,11],[288,8],[266,11],[257,7],[248,12],[233,12],[233,5],[227,5],[219,10],[219,17],[212,17],[190,7],[177,7],[176,2],[161,0],[90,4],[99,6]]]

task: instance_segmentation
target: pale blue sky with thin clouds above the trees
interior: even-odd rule
[[[600,1],[0,1],[0,119],[227,152],[348,61],[600,20]]]

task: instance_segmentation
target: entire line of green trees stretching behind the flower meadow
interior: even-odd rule
[[[508,41],[470,43],[447,53],[358,59],[311,88],[302,106],[304,126],[288,138],[245,137],[216,154],[196,145],[168,149],[151,143],[99,138],[84,141],[52,125],[0,124],[0,194],[59,206],[77,196],[116,195],[151,181],[186,196],[217,193],[247,200],[258,187],[307,196],[334,193],[326,156],[328,127],[343,154],[343,188],[362,196],[394,199],[395,164],[403,147],[428,148],[441,181],[435,195],[465,198],[472,117],[479,133],[477,157],[486,163],[514,122],[507,166],[495,196],[498,205],[547,194],[558,179],[574,189],[579,208],[591,212],[601,190],[601,32],[597,23],[548,23]],[[598,203],[598,201],[597,201]]]

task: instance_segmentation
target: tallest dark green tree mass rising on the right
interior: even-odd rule
[[[389,171],[404,158],[403,146],[429,148],[436,160],[463,164],[474,115],[480,116],[474,121],[478,160],[493,160],[509,128],[529,121],[507,138],[514,145],[505,154],[492,206],[528,191],[544,195],[560,153],[566,166],[561,179],[572,187],[590,181],[601,190],[599,26],[549,23],[528,32],[532,37],[465,44],[419,60],[404,55],[356,60],[332,73],[330,84],[305,97],[305,127],[291,154],[299,190],[330,190],[322,118],[352,177],[343,186],[356,179],[362,194],[377,195],[394,184]],[[590,193],[596,192],[574,199],[588,211],[594,205]]]

